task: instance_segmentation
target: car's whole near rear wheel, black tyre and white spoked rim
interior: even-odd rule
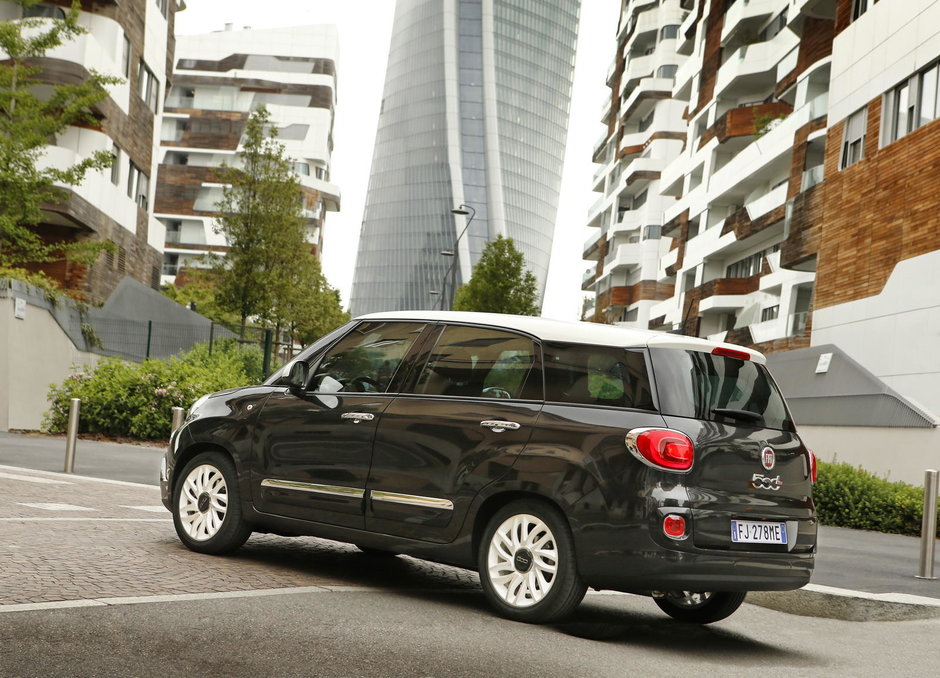
[[[490,518],[478,554],[483,593],[504,617],[558,621],[584,598],[568,521],[554,507],[514,501]]]

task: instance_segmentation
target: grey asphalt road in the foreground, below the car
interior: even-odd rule
[[[699,627],[591,595],[560,626],[475,592],[333,591],[4,614],[0,675],[925,676],[940,620],[853,623],[744,605]]]

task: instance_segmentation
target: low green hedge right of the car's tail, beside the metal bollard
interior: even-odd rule
[[[879,478],[850,464],[819,462],[813,489],[823,525],[919,536],[924,490]]]

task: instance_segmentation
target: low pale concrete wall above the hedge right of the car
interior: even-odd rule
[[[892,481],[924,484],[940,469],[940,429],[800,426],[800,437],[821,461],[861,466]]]

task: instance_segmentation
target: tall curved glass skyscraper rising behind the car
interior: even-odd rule
[[[445,308],[488,240],[545,288],[579,0],[398,0],[353,279],[354,315]],[[451,214],[458,205],[475,210]]]

